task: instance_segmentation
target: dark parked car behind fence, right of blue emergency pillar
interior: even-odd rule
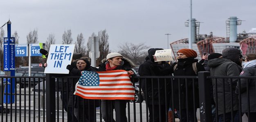
[[[15,76],[29,76],[29,72],[16,72]],[[44,72],[31,72],[31,76],[45,76]],[[35,81],[34,81],[35,80]],[[30,86],[34,87],[35,85],[38,84],[39,81],[43,81],[42,78],[30,78]],[[28,87],[29,86],[29,78],[16,78],[16,87],[17,88],[23,88],[23,87]]]

